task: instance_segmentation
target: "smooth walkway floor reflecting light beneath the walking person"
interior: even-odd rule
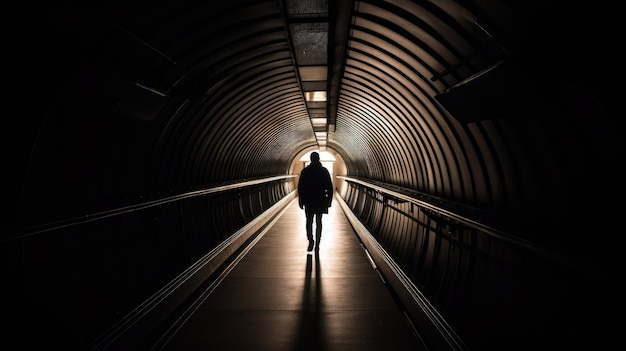
[[[308,252],[297,200],[198,301],[162,350],[425,350],[341,207]]]

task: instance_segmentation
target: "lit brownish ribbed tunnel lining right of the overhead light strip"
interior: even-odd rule
[[[453,14],[463,13],[454,4],[444,5],[456,10]],[[434,99],[449,84],[431,80],[472,55],[483,38],[475,38],[469,14],[453,18],[443,11],[428,2],[359,2],[335,140],[356,130],[367,136],[350,148],[362,152],[357,163],[370,165],[363,176],[484,204],[490,199],[481,189],[498,179],[476,167],[477,162],[499,163],[480,159],[476,136]],[[480,59],[464,65],[460,74],[467,77],[491,64]]]

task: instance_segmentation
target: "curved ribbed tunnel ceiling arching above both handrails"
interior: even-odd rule
[[[350,176],[552,213],[568,211],[563,195],[588,178],[584,169],[612,157],[597,73],[573,76],[561,65],[598,60],[599,45],[585,54],[574,43],[591,35],[576,23],[593,16],[588,8],[402,0],[85,6],[25,15],[32,45],[16,59],[50,48],[18,84],[30,96],[27,82],[36,79],[46,92],[40,104],[24,105],[32,117],[20,126],[21,203],[35,213],[285,174],[318,146],[337,152]],[[301,45],[322,62],[307,62]],[[303,77],[319,69],[321,84]],[[308,103],[309,90],[324,91],[326,104]],[[312,117],[325,121],[321,129]]]

